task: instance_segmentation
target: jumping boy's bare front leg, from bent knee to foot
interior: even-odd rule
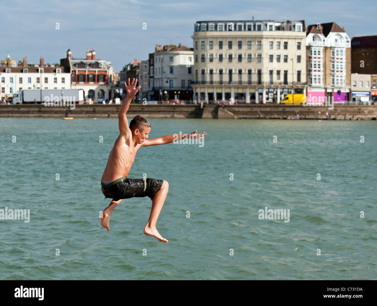
[[[160,214],[162,205],[164,205],[167,193],[169,191],[169,183],[163,181],[161,188],[157,191],[152,199],[152,208],[150,210],[149,220],[144,228],[144,234],[156,237],[160,242],[168,242],[167,239],[162,238],[156,229],[156,223]]]

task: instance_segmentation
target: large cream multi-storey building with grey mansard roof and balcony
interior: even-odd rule
[[[198,21],[193,99],[275,102],[306,95],[305,21]]]

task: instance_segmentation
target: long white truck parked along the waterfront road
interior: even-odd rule
[[[84,103],[83,89],[23,89],[13,95],[13,104],[25,103],[61,103],[62,101],[75,104]]]

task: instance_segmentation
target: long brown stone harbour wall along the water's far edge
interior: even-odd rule
[[[69,106],[44,106],[43,104],[0,105],[0,117],[74,117],[74,118],[117,118],[121,104],[81,104],[75,109]],[[142,115],[146,118],[205,118],[205,119],[319,119],[375,120],[377,105],[334,105],[304,107],[284,104],[215,104],[164,105],[130,104],[127,115],[132,118]],[[320,114],[319,114],[320,112]]]

